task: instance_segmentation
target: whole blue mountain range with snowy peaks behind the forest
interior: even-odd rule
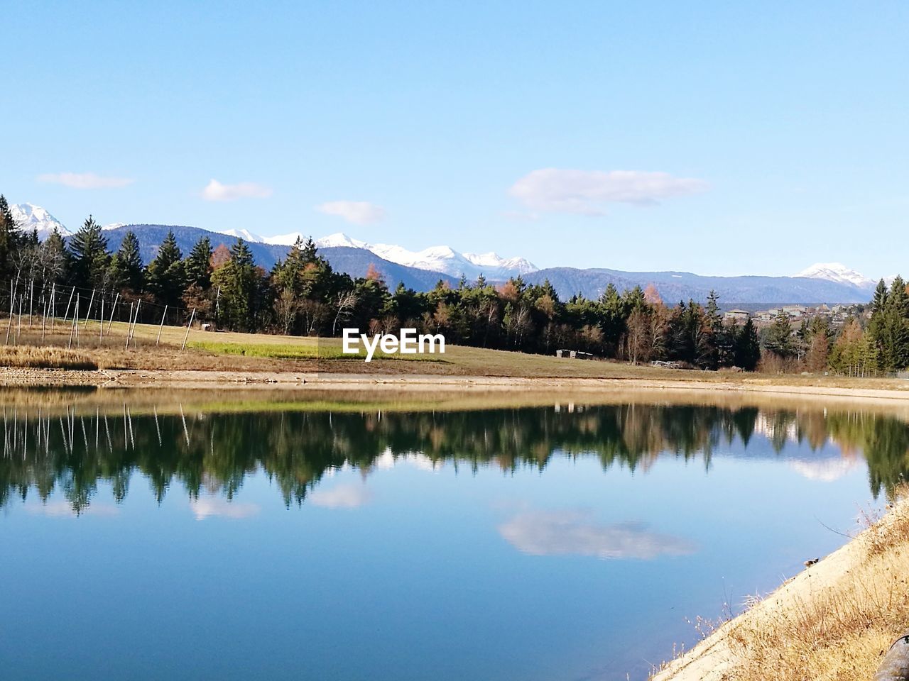
[[[22,227],[38,230],[39,236],[43,237],[53,229],[65,236],[72,233],[40,206],[22,203],[10,208]],[[299,232],[263,238],[246,231],[209,232],[198,227],[123,223],[105,226],[105,236],[109,247],[115,250],[126,232],[135,232],[143,260],[150,262],[169,230],[174,231],[184,253],[189,252],[202,236],[208,236],[215,248],[221,243],[229,248],[242,238],[249,242],[255,261],[266,270],[285,258],[298,237],[305,239]],[[395,288],[398,282],[403,282],[417,291],[428,291],[438,281],[454,286],[462,275],[468,281],[474,281],[480,274],[487,281],[506,281],[521,276],[528,283],[550,281],[564,299],[574,293],[582,293],[588,298],[599,297],[610,283],[619,291],[654,284],[664,301],[670,304],[689,298],[704,301],[709,291],[715,290],[720,294],[723,306],[730,308],[782,303],[860,303],[867,302],[874,289],[873,280],[835,262],[817,263],[792,277],[714,277],[684,271],[634,272],[573,267],[541,270],[524,258],[502,258],[494,252],[462,253],[448,246],[414,252],[397,245],[361,242],[342,233],[326,236],[315,243],[335,270],[362,277],[373,265],[384,275],[389,287]]]

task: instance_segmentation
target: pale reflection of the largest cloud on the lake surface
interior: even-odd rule
[[[528,511],[499,526],[514,548],[532,556],[639,558],[684,556],[694,545],[652,532],[643,523],[604,525],[580,511]]]

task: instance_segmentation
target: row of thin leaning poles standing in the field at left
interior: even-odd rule
[[[29,285],[24,287],[24,290],[21,293],[18,292],[18,288],[19,288],[18,281],[15,281],[15,282],[10,281],[9,321],[6,325],[6,338],[4,341],[5,345],[9,345],[9,339],[10,339],[11,334],[13,333],[13,327],[14,327],[13,321],[16,316],[18,317],[18,322],[15,325],[14,340],[16,342],[18,342],[19,337],[22,335],[22,318],[23,318],[22,309],[25,304],[26,298],[28,300],[27,311],[28,311],[28,328],[29,329],[32,328],[32,324],[35,320],[35,314],[34,314],[34,311],[35,311],[35,281],[34,280],[30,281]],[[61,287],[61,289],[62,288],[63,287]],[[54,283],[51,285],[50,298],[45,297],[44,287],[43,287],[43,291],[41,291],[41,293],[42,293],[42,299],[43,299],[42,312],[41,312],[41,341],[44,342],[45,333],[48,328],[47,327],[48,319],[50,321],[50,331],[52,333],[55,331],[55,323],[56,323],[56,319],[57,319],[56,318],[56,295],[57,295],[56,284]],[[63,295],[65,295],[65,292],[63,292]],[[97,295],[97,289],[92,289],[92,295],[88,299],[88,308],[85,310],[85,317],[82,318],[83,330],[85,330],[85,326],[88,324],[88,320],[91,317],[92,310],[95,308],[95,296],[96,295]],[[75,305],[73,304],[74,297],[75,297]],[[97,320],[99,322],[98,323],[98,341],[101,342],[101,341],[104,341],[104,337],[105,337],[105,319],[107,319],[107,317],[105,316],[104,293],[102,292],[102,294],[97,297],[99,299],[99,304],[98,304],[99,309],[96,310]],[[73,286],[72,289],[69,291],[69,298],[66,301],[66,311],[64,313],[63,322],[62,322],[62,325],[64,327],[67,324],[70,325],[69,341],[66,346],[67,349],[72,349],[74,341],[75,341],[76,345],[79,344],[79,321],[80,321],[79,306],[80,306],[81,301],[82,301],[82,293],[77,293],[76,287]],[[119,301],[120,301],[120,293],[117,292],[116,297],[114,299],[114,303],[110,306],[111,309],[110,309],[109,319],[107,319],[106,333],[108,333],[108,334],[110,333],[111,327],[114,324],[116,306]],[[16,311],[17,302],[18,302],[18,311]],[[127,317],[127,326],[126,326],[126,343],[125,343],[126,350],[129,350],[130,342],[133,343],[133,347],[135,348],[135,325],[139,321],[139,311],[142,308],[142,302],[143,302],[142,299],[139,299],[135,302],[130,301],[130,303],[129,303],[129,315]],[[125,304],[125,299],[124,299],[124,304]],[[167,319],[168,308],[169,308],[169,306],[165,305],[164,313],[161,315],[161,323],[158,325],[158,334],[157,334],[157,338],[155,339],[156,346],[161,344],[161,333],[162,333],[162,331],[164,331],[164,328],[165,328],[165,320]],[[172,308],[172,310],[174,310],[174,309]],[[72,318],[71,322],[69,321],[70,320],[70,311],[73,312],[73,318]],[[193,321],[195,321],[195,308],[193,308],[192,312],[190,313],[189,323],[186,325],[186,333],[185,333],[185,336],[183,339],[183,344],[180,347],[181,351],[186,349],[186,341],[189,339],[189,330],[192,329],[192,327],[193,327]]]

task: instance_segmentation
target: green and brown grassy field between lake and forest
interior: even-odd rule
[[[126,348],[126,322],[105,324],[103,335],[97,321],[80,322],[78,333],[72,324],[56,321],[44,333],[40,318],[32,327],[24,317],[21,327],[16,318],[8,347],[65,349],[73,335],[72,350],[95,363],[99,369],[122,370],[205,370],[225,372],[318,372],[355,374],[436,374],[453,376],[514,377],[541,379],[639,379],[660,382],[723,381],[751,385],[824,386],[848,389],[909,390],[909,381],[887,379],[848,379],[817,375],[775,375],[724,371],[671,370],[634,366],[611,360],[570,360],[554,356],[529,355],[504,350],[486,350],[447,345],[443,355],[394,355],[377,353],[371,362],[341,352],[340,339],[301,338],[212,332],[185,327],[137,324]],[[160,331],[160,338],[159,338]],[[44,338],[42,338],[44,336]],[[186,342],[185,349],[183,343]],[[42,350],[45,358],[55,355]],[[11,359],[5,366],[59,366],[75,368],[63,355],[55,364],[27,364]]]

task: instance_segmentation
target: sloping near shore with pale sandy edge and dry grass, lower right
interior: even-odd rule
[[[783,666],[805,664],[806,673],[810,673],[804,658],[812,655],[819,658],[810,660],[815,673],[845,666],[852,673],[859,672],[856,677],[870,679],[883,653],[905,627],[902,621],[898,626],[868,621],[861,610],[887,602],[898,608],[897,603],[909,597],[899,577],[909,558],[907,522],[909,499],[903,498],[844,546],[786,579],[690,650],[654,670],[649,681],[750,680],[763,678],[764,673],[766,677],[779,677],[774,672],[779,673],[781,661]],[[875,598],[887,589],[891,598],[896,594],[896,599],[884,598],[876,603]],[[860,603],[863,598],[870,603]],[[818,631],[804,631],[813,628],[813,619],[823,622],[824,618],[836,620],[835,624],[824,623],[825,635],[820,633],[824,626]],[[807,645],[794,640],[802,636],[810,639]],[[803,649],[797,650],[800,645]]]

